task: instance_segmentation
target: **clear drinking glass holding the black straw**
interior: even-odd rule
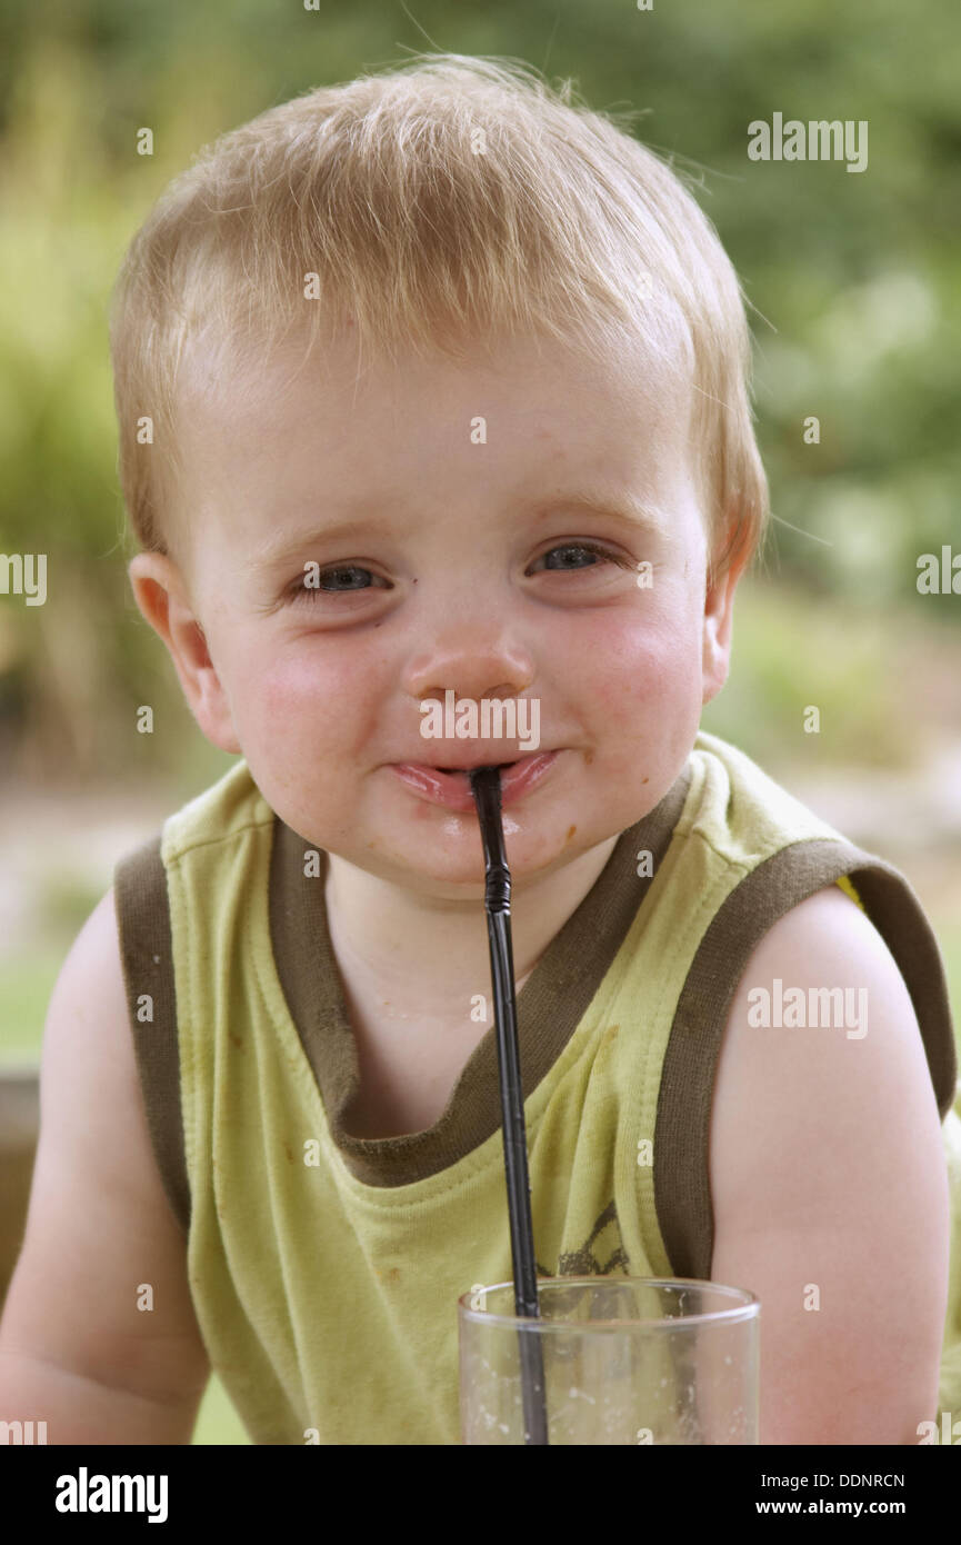
[[[525,1443],[521,1338],[541,1344],[550,1443],[757,1443],[760,1301],[689,1278],[538,1282],[539,1319],[513,1282],[457,1299],[460,1438]],[[528,1349],[530,1353],[530,1349]]]

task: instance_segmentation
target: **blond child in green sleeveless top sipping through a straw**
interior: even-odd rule
[[[213,1367],[255,1443],[459,1440],[456,1301],[511,1275],[479,763],[539,1275],[754,1292],[762,1443],[961,1412],[930,925],[698,731],[768,505],[677,176],[514,65],[311,91],[159,199],[111,348],[136,601],[241,760],[54,992],[0,1414],[187,1443]]]

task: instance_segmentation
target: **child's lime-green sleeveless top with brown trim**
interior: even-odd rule
[[[117,864],[151,1142],[253,1443],[459,1443],[456,1302],[511,1276],[494,1031],[434,1126],[352,1136],[324,879],[244,760]],[[518,993],[538,1275],[711,1278],[728,1007],[776,919],[834,882],[902,972],[942,1117],[941,1406],[958,1414],[961,1091],[938,944],[904,876],[705,731]]]

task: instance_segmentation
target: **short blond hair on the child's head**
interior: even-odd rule
[[[261,113],[173,179],[110,312],[119,477],[141,547],[176,545],[187,362],[229,379],[290,334],[309,351],[348,317],[362,349],[388,358],[464,357],[471,332],[542,331],[587,349],[641,340],[694,391],[714,578],[760,547],[768,485],[734,267],[678,173],[570,82],[555,91],[516,60],[420,54]],[[139,443],[145,414],[153,445]]]

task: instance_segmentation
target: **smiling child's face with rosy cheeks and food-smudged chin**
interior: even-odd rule
[[[518,879],[658,803],[725,681],[737,579],[705,596],[689,402],[661,377],[640,352],[514,341],[477,346],[468,368],[411,357],[357,379],[340,343],[294,383],[264,368],[190,403],[188,589],[158,555],[130,572],[198,723],[247,759],[287,825],[408,888],[476,896],[473,802],[453,810],[397,765],[510,762],[522,746],[425,739],[420,703],[447,689],[539,700],[533,756],[556,756],[504,808]],[[629,499],[661,527],[637,524]]]

